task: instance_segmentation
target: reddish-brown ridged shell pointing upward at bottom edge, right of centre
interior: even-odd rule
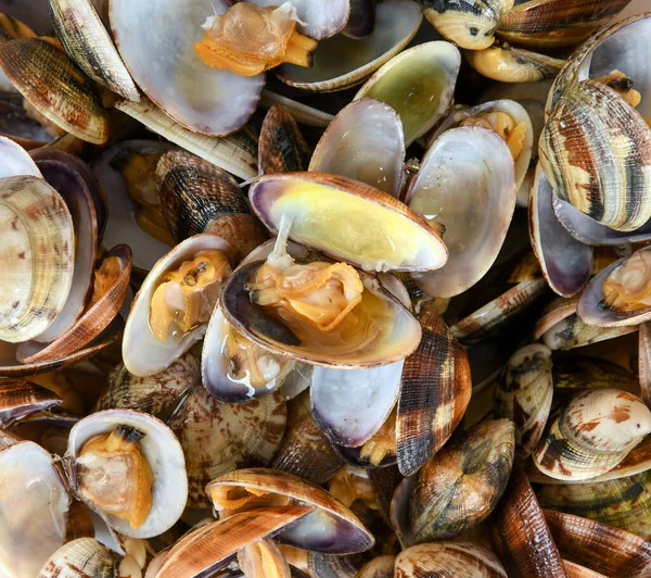
[[[493,517],[493,542],[509,576],[565,578],[567,575],[534,490],[516,463]]]

